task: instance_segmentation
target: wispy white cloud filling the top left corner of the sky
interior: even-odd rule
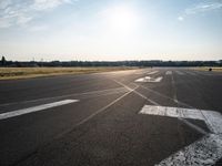
[[[0,28],[26,25],[43,11],[72,3],[71,0],[3,0],[0,1]]]

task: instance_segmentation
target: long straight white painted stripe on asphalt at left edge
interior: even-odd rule
[[[47,108],[61,106],[61,105],[65,105],[65,104],[74,103],[74,102],[78,102],[78,100],[64,100],[64,101],[38,105],[38,106],[29,107],[29,108],[22,108],[22,110],[18,110],[18,111],[7,112],[7,113],[0,114],[0,120],[16,117],[16,116],[20,116],[20,115],[29,114],[29,113],[33,113],[33,112],[39,112],[39,111],[43,111]]]

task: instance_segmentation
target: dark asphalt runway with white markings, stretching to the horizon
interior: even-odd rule
[[[0,165],[222,165],[222,73],[0,81]]]

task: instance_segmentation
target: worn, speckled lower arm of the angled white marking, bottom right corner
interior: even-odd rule
[[[222,135],[209,134],[155,166],[210,166],[222,157]]]

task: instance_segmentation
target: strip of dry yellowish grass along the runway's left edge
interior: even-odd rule
[[[53,76],[62,74],[87,74],[132,69],[135,68],[0,68],[0,80]]]

